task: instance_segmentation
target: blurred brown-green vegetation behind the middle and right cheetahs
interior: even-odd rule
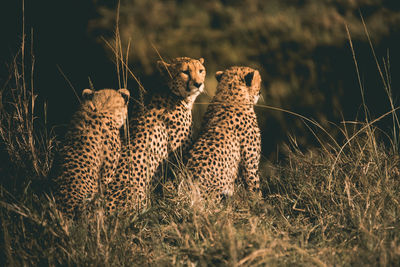
[[[99,40],[104,37],[112,41],[117,1],[95,2],[98,17],[89,23],[90,32]],[[119,27],[123,50],[129,41],[132,44],[130,66],[150,91],[155,86],[154,62],[158,59],[153,45],[165,59],[204,57],[207,90],[211,96],[216,86],[215,71],[231,65],[249,65],[261,71],[265,104],[314,118],[339,134],[328,121],[355,119],[361,105],[346,24],[355,44],[360,71],[368,77],[365,95],[371,116],[388,110],[389,102],[360,14],[376,46],[378,59],[386,57],[389,51],[389,58],[400,62],[398,51],[393,51],[400,44],[397,38],[400,5],[396,1],[122,0]],[[103,40],[100,42],[104,44]],[[392,65],[392,72],[400,70],[398,62]],[[206,100],[207,97],[200,98],[200,102]],[[204,108],[197,110],[201,113]],[[279,144],[287,141],[287,133],[296,136],[302,146],[315,142],[298,118],[265,108],[259,108],[258,113],[262,118],[265,155],[273,155]]]

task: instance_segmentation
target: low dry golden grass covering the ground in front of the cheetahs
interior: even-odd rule
[[[343,150],[330,181],[336,156],[292,148],[286,163],[263,166],[263,199],[238,186],[206,208],[176,177],[151,208],[125,217],[105,218],[100,205],[71,222],[28,190],[1,201],[1,258],[10,265],[396,264],[398,155],[375,150],[364,132]]]

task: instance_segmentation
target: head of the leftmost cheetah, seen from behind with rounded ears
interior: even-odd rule
[[[129,91],[127,89],[102,89],[82,91],[82,106],[95,113],[109,113],[115,118],[117,127],[124,125],[128,113]]]

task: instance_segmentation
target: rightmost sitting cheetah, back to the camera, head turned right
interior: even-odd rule
[[[216,73],[217,91],[204,115],[202,131],[188,153],[186,167],[201,199],[231,196],[241,176],[259,193],[261,135],[253,105],[260,95],[261,76],[249,67]]]

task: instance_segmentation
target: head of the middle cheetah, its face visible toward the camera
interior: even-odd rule
[[[172,93],[184,99],[193,100],[193,97],[196,98],[204,90],[206,69],[203,63],[203,58],[197,60],[178,57],[171,64],[158,61],[157,66],[163,76],[167,78],[168,87]]]

